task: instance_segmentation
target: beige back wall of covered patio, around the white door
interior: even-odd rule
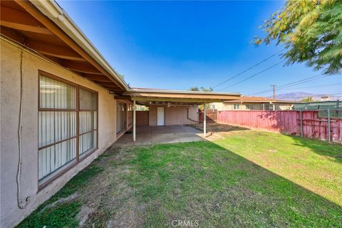
[[[157,107],[158,105],[149,106],[149,123],[150,126],[157,125]],[[187,109],[189,108],[189,120]],[[195,120],[195,121],[192,121]],[[180,106],[174,105],[165,107],[165,125],[189,125],[198,121],[198,106]]]

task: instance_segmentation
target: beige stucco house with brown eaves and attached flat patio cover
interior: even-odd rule
[[[136,104],[149,106],[150,125],[182,125],[197,120],[198,104],[240,96],[130,88],[54,1],[1,1],[0,42],[0,227],[20,222],[125,131],[135,140]]]

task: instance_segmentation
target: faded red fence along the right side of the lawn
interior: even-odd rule
[[[318,118],[316,110],[304,110],[302,120],[304,137],[328,140],[328,118]],[[301,135],[301,116],[296,110],[218,111],[217,123]],[[342,120],[331,118],[331,141],[342,143],[341,128]]]

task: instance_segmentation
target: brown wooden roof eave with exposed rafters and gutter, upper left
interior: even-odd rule
[[[1,1],[1,36],[122,94],[125,82],[54,1]]]

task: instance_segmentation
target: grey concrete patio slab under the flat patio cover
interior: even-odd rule
[[[204,138],[202,138],[202,131],[186,125],[137,126],[135,142],[133,142],[133,134],[126,133],[119,138],[113,146],[126,147],[199,140],[204,140]]]

